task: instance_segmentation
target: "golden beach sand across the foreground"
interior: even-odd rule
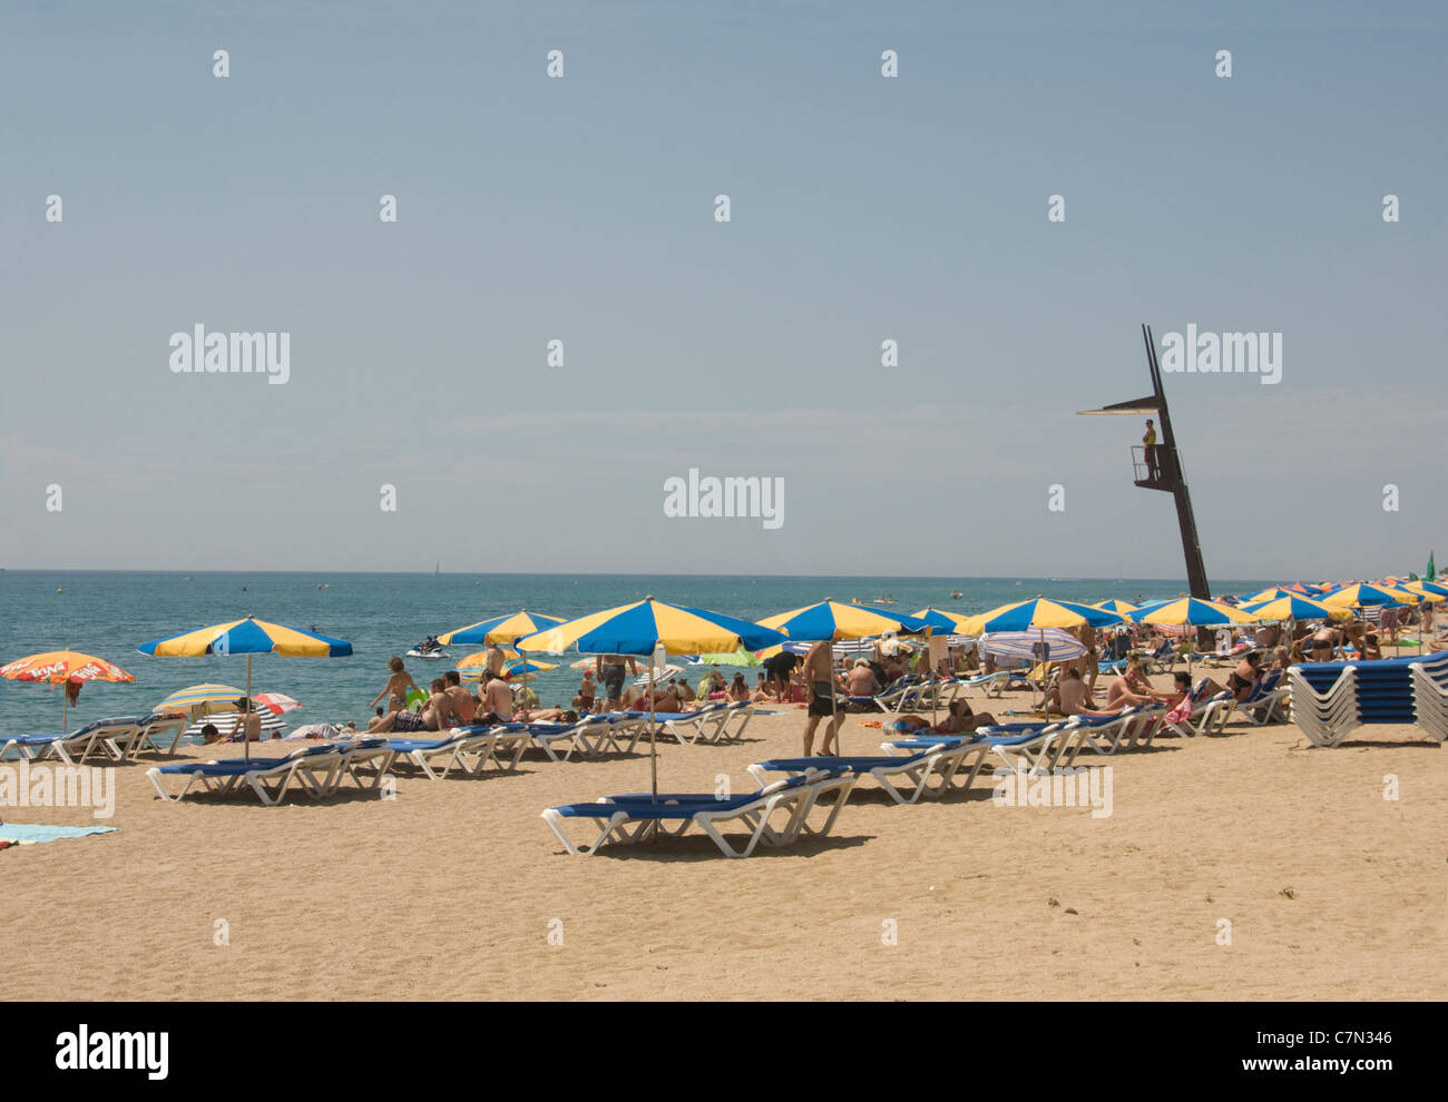
[[[867,719],[849,716],[846,752],[877,752]],[[756,716],[741,743],[660,743],[660,785],[711,791],[728,774],[752,791],[744,766],[796,755],[802,723],[788,707]],[[349,785],[277,808],[249,794],[164,803],[151,764],[116,771],[110,820],[3,808],[119,832],[0,852],[0,996],[1448,996],[1448,751],[1416,727],[1323,751],[1290,725],[1234,723],[1082,755],[1114,769],[1106,819],[998,807],[988,774],[909,807],[866,782],[833,837],[747,860],[704,836],[562,852],[539,813],[647,790],[646,753],[530,753],[515,775],[481,779],[400,772],[391,801]],[[1387,774],[1397,800],[1384,800]]]

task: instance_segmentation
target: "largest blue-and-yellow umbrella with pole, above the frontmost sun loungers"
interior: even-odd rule
[[[527,635],[517,641],[520,651],[563,654],[576,646],[585,654],[620,654],[649,657],[650,677],[657,651],[669,655],[737,651],[741,646],[757,651],[783,642],[782,632],[721,612],[668,605],[653,597],[604,609],[576,620]],[[659,740],[654,722],[653,694],[649,694],[649,759],[653,798],[659,798]]]

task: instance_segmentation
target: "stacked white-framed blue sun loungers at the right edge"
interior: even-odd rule
[[[1287,671],[1292,717],[1318,746],[1370,725],[1418,725],[1441,745],[1448,733],[1448,652],[1373,662],[1308,662]]]

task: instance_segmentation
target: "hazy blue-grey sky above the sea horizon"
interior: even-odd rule
[[[1147,323],[1281,334],[1166,376],[1209,577],[1420,570],[1445,56],[1428,3],[6,4],[0,565],[1180,577],[1076,417]],[[172,370],[198,324],[285,383]]]

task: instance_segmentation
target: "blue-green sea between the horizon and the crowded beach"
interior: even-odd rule
[[[1270,584],[1270,580],[1215,581],[1213,593],[1251,593]],[[951,597],[957,591],[961,596]],[[151,658],[136,648],[149,639],[255,616],[346,639],[353,654],[349,658],[256,655],[252,691],[284,693],[301,701],[303,707],[285,717],[291,726],[353,720],[362,727],[372,716],[369,701],[387,683],[391,655],[405,654],[427,635],[520,609],[573,618],[652,596],[756,620],[827,599],[857,597],[872,605],[886,597],[895,603],[876,607],[975,613],[1035,596],[1137,602],[1184,591],[1186,581],[1180,578],[3,570],[0,665],[42,651],[74,649],[106,658],[135,675],[130,684],[87,684],[65,720],[74,730],[91,719],[145,714],[169,693],[201,681],[245,688],[245,657]],[[404,661],[413,678],[426,685],[478,649],[450,646],[452,661]],[[566,707],[581,677],[569,664],[579,655],[537,658],[559,664],[531,683],[542,703]],[[61,696],[46,685],[0,678],[0,735],[59,730]]]

